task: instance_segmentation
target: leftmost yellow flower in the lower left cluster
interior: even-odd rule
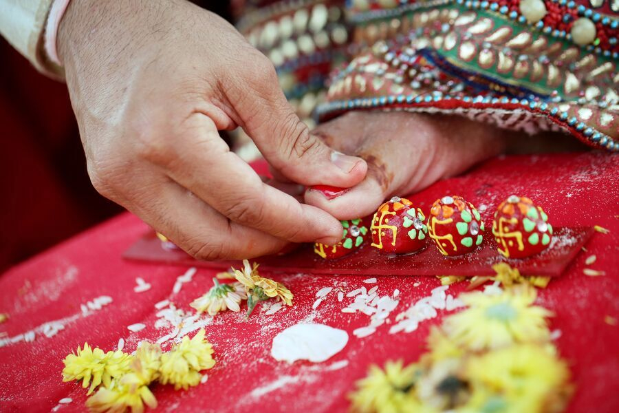
[[[88,394],[91,394],[101,383],[109,387],[111,379],[129,372],[131,356],[120,350],[105,353],[85,343],[83,349],[78,347],[77,354],[67,355],[63,363],[63,381],[83,380],[82,387],[87,388],[90,384]]]

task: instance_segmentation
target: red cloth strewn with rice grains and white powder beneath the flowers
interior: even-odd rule
[[[580,153],[548,156],[518,156],[496,158],[473,171],[439,185],[449,193],[458,193],[475,185],[475,176],[496,173],[503,168],[528,177],[528,186],[503,182],[478,193],[481,203],[488,193],[528,195],[543,205],[556,226],[591,226],[600,224],[611,233],[596,233],[567,269],[565,275],[553,279],[550,286],[539,291],[539,304],[555,313],[552,330],[561,335],[556,339],[562,357],[567,359],[574,374],[576,393],[570,412],[617,412],[619,396],[618,346],[619,284],[619,209],[614,187],[619,178],[616,156],[606,153]],[[431,187],[426,191],[433,191]],[[423,196],[420,193],[420,196]],[[498,199],[488,199],[496,207]],[[479,205],[478,205],[479,207]],[[212,286],[215,271],[199,268],[193,280],[183,284],[180,293],[173,294],[178,276],[186,271],[182,266],[140,264],[121,259],[121,254],[147,230],[133,215],[122,215],[82,235],[32,258],[0,278],[0,312],[10,319],[0,325],[0,331],[15,337],[35,330],[34,341],[6,343],[0,347],[0,410],[50,411],[64,397],[73,399],[63,405],[63,412],[84,409],[86,390],[78,383],[63,383],[62,359],[85,341],[103,350],[116,348],[124,338],[124,349],[135,350],[138,341],[155,341],[169,328],[155,328],[154,304],[163,299],[180,308],[191,310],[188,303]],[[590,268],[606,271],[605,276],[583,275],[585,259],[596,255]],[[135,293],[135,278],[151,284],[144,293]],[[194,412],[339,412],[348,406],[346,394],[354,381],[364,377],[369,364],[387,359],[415,361],[424,351],[424,341],[431,324],[437,324],[447,314],[424,321],[415,332],[389,334],[390,324],[380,326],[368,337],[352,335],[354,329],[369,324],[362,314],[345,314],[340,309],[352,298],[342,302],[336,289],[346,293],[360,286],[378,286],[380,295],[400,290],[400,304],[395,315],[430,294],[439,286],[433,277],[378,277],[377,284],[364,284],[367,276],[274,275],[294,293],[292,308],[265,315],[260,305],[250,319],[242,313],[222,313],[206,326],[206,335],[213,343],[217,365],[208,370],[208,381],[187,391],[174,391],[171,386],[154,385],[153,391],[162,411]],[[312,309],[320,288],[336,289],[323,303]],[[457,295],[466,283],[450,286],[447,293]],[[80,304],[107,295],[113,301],[84,317]],[[243,310],[245,306],[243,306]],[[69,317],[64,330],[45,337],[42,324]],[[208,319],[208,317],[204,317]],[[605,321],[606,320],[606,321]],[[342,328],[349,332],[349,343],[332,359],[312,364],[296,362],[292,366],[270,357],[272,338],[281,330],[301,321],[313,321]],[[610,322],[609,322],[610,321]],[[146,328],[130,332],[127,326],[144,323]],[[192,333],[193,335],[193,333]],[[164,350],[169,349],[165,343]]]

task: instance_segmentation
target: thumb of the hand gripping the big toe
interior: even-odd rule
[[[261,73],[259,81],[251,80],[255,93],[246,92],[233,105],[241,126],[270,165],[305,185],[349,188],[361,182],[367,172],[365,160],[335,151],[311,134],[287,102],[270,62]]]

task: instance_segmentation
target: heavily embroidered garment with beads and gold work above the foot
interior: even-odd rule
[[[301,116],[442,112],[619,151],[616,2],[250,3],[238,27]]]

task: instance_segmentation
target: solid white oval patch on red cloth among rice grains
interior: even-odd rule
[[[294,363],[308,360],[321,363],[340,352],[348,343],[348,333],[324,324],[295,324],[273,339],[271,356]]]

